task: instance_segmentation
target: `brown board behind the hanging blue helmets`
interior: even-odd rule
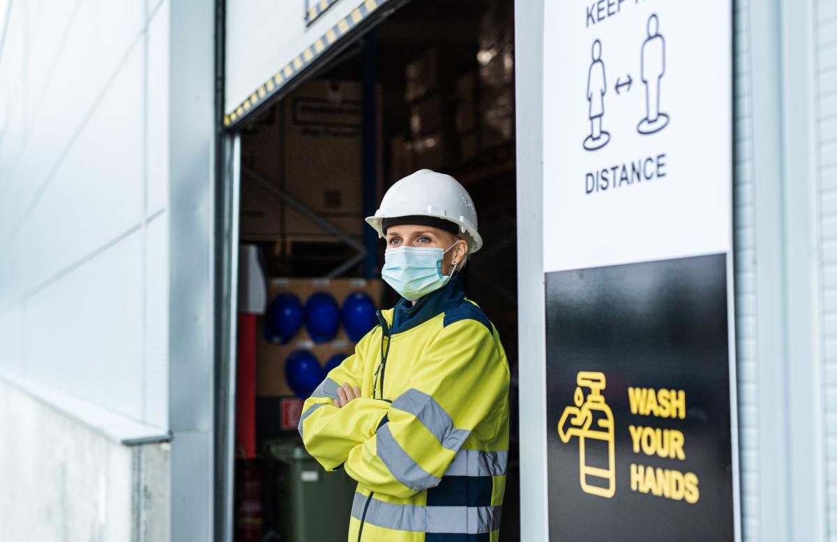
[[[372,297],[380,307],[383,294],[383,282],[380,279],[270,279],[268,281],[268,299],[273,300],[282,292],[293,292],[303,304],[311,294],[326,291],[333,295],[338,304],[342,304],[348,294],[362,290]],[[285,358],[294,350],[311,350],[321,365],[335,354],[351,355],[355,350],[353,343],[342,326],[334,340],[319,345],[308,336],[305,326],[286,345],[274,345],[264,338],[264,316],[258,318],[259,337],[256,342],[256,396],[293,396],[285,380]]]

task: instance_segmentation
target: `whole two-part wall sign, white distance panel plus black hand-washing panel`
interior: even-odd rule
[[[733,539],[732,5],[544,20],[550,539]]]

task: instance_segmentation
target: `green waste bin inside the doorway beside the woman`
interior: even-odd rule
[[[326,473],[299,439],[265,442],[264,452],[276,460],[283,542],[346,542],[357,483],[343,469]]]

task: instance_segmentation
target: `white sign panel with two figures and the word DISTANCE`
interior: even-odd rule
[[[544,8],[545,271],[729,252],[730,3]]]

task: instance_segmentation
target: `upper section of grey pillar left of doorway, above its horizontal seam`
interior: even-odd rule
[[[213,8],[207,0],[189,0],[172,3],[170,14],[169,325],[175,431],[208,431],[213,419],[206,396],[212,388]]]

